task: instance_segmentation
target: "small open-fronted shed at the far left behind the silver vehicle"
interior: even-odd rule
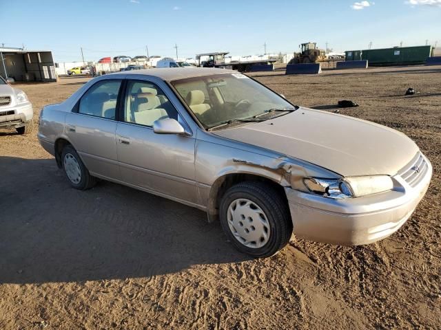
[[[15,81],[57,81],[50,50],[0,47],[0,75]]]

